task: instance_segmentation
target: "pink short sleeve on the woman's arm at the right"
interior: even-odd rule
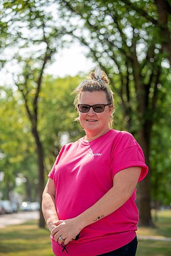
[[[131,134],[125,133],[120,137],[112,153],[113,177],[120,170],[133,166],[142,167],[138,182],[143,180],[147,175],[148,167],[145,164],[142,149]]]

